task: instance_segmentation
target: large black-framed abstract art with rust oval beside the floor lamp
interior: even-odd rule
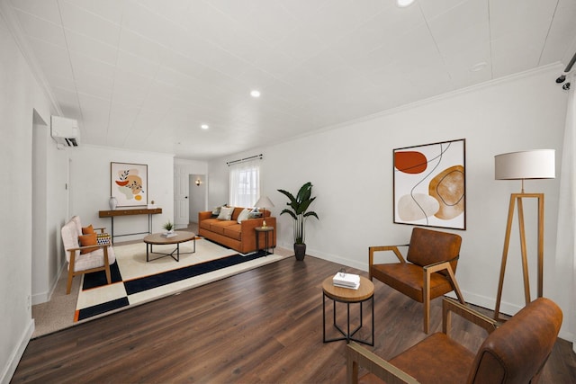
[[[394,223],[466,229],[466,142],[393,150]]]

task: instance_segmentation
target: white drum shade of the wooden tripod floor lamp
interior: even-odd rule
[[[554,149],[533,149],[494,156],[496,180],[554,179]]]

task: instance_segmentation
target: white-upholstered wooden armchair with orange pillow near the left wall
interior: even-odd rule
[[[103,232],[103,228],[95,229],[102,229],[101,232]],[[78,243],[78,237],[82,235],[82,224],[77,216],[70,219],[70,221],[62,227],[60,233],[64,249],[66,250],[66,260],[68,263],[66,294],[70,293],[74,276],[79,274],[104,271],[106,273],[108,284],[112,282],[110,264],[116,261],[116,257],[110,244],[100,246],[80,246]],[[82,250],[90,248],[97,249],[93,252],[85,254],[81,253]]]

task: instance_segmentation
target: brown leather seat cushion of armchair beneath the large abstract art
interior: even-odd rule
[[[370,272],[374,278],[391,286],[394,290],[420,303],[423,302],[424,270],[419,265],[412,263],[374,264]],[[452,285],[445,275],[437,272],[430,275],[430,299],[440,297],[452,290]]]

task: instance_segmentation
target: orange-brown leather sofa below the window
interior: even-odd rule
[[[264,211],[264,218],[245,219],[238,224],[238,216],[244,208],[235,207],[230,220],[221,220],[212,216],[211,210],[198,212],[198,235],[212,240],[222,246],[229,246],[241,254],[257,250],[255,228],[262,227],[266,219],[267,227],[276,228],[276,218],[270,216],[270,211]],[[259,234],[260,249],[264,249],[265,238],[268,236],[268,246],[276,246],[276,231]]]

